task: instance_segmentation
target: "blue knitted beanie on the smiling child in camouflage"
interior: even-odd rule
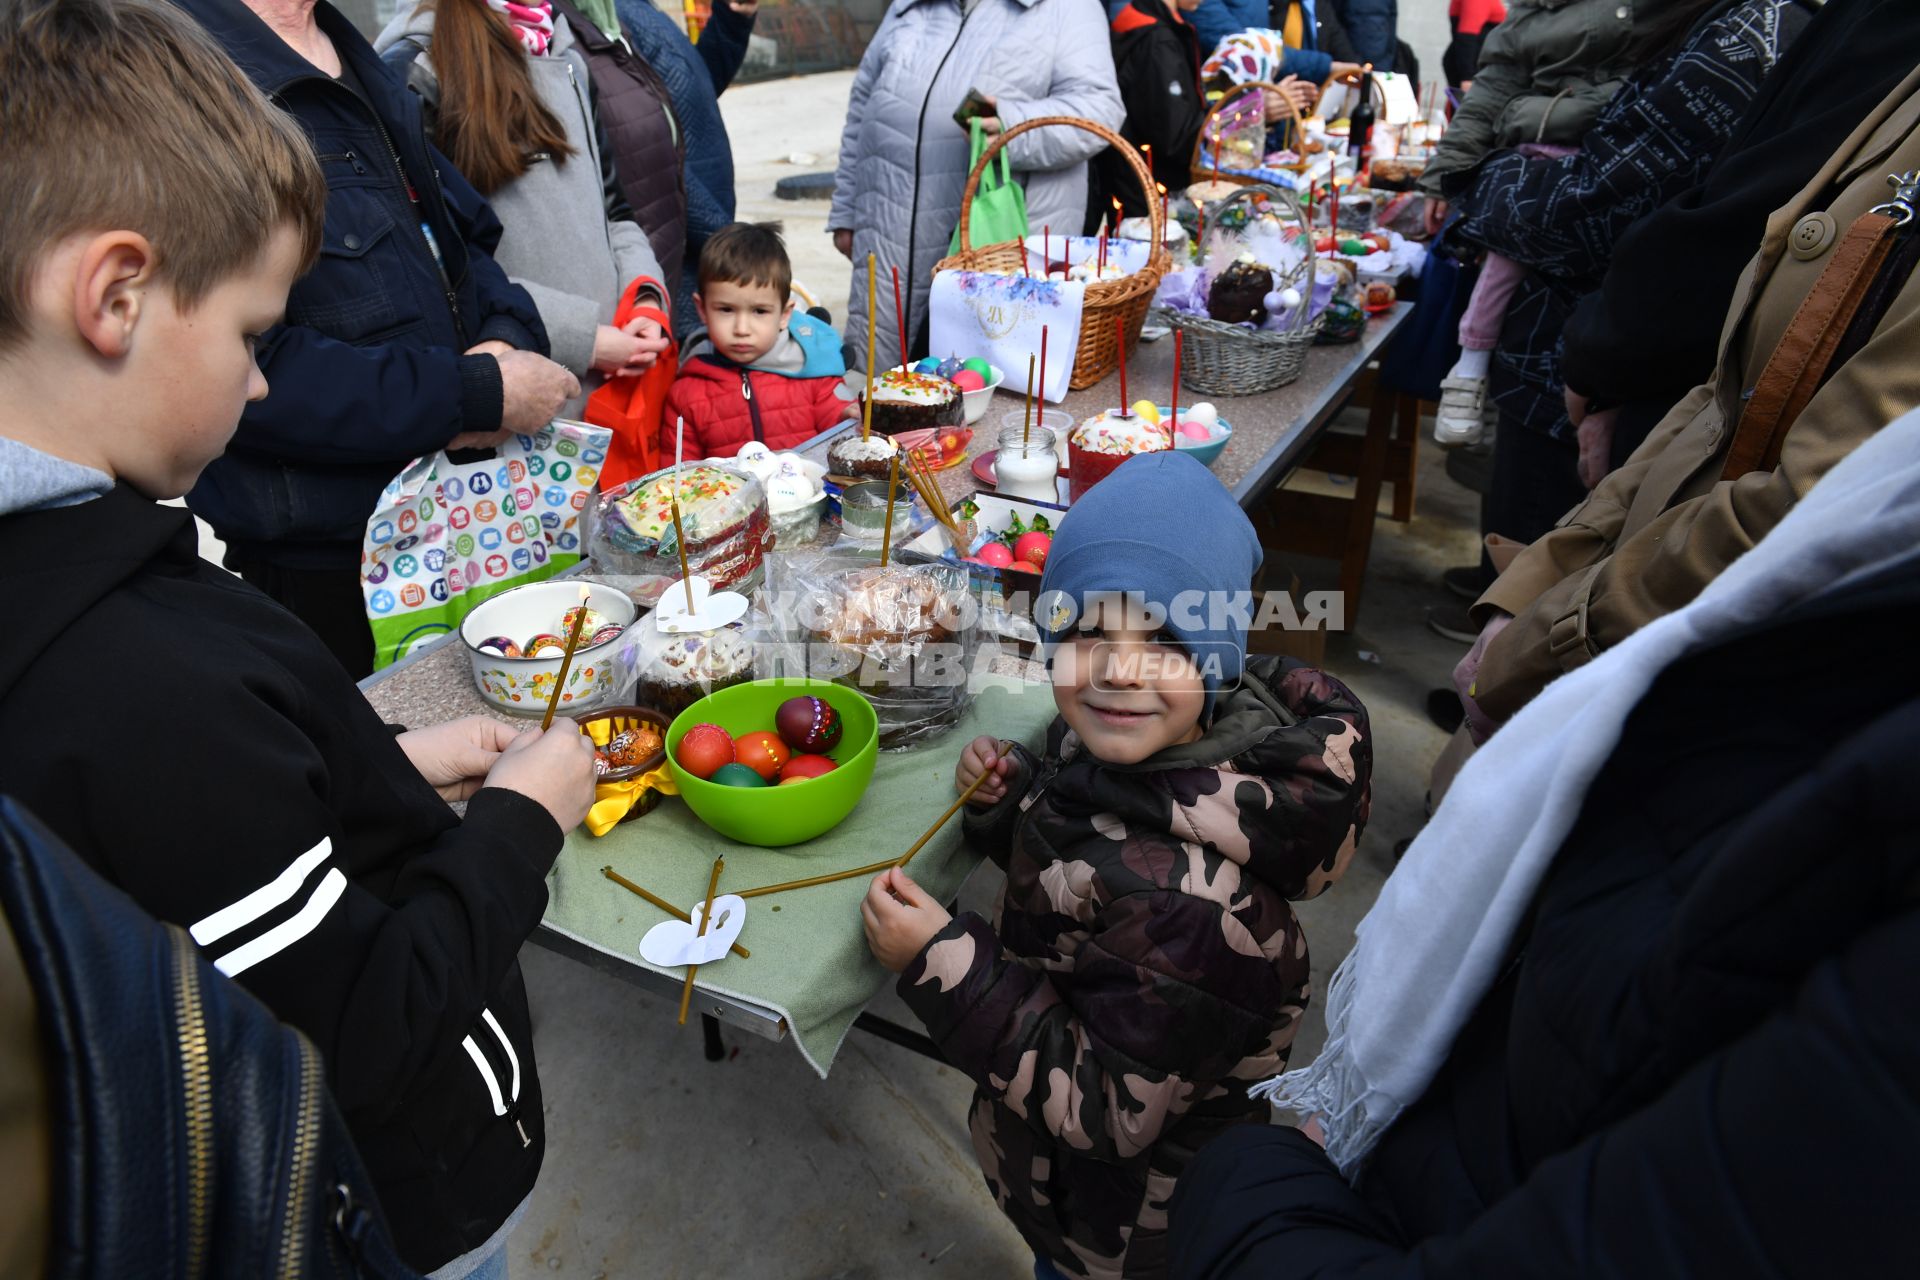
[[[1035,624],[1048,656],[1089,599],[1127,597],[1164,612],[1167,631],[1213,695],[1246,664],[1246,622],[1261,549],[1254,524],[1202,462],[1165,449],[1140,453],[1087,491],[1046,553]]]

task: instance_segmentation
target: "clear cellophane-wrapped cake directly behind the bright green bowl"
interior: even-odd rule
[[[981,628],[962,568],[780,557],[766,595],[783,643],[762,676],[858,689],[879,718],[881,750],[937,739],[972,702]]]

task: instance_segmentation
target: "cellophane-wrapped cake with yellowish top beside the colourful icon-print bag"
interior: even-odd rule
[[[593,562],[609,574],[639,578],[630,595],[643,606],[653,606],[680,580],[672,487],[668,466],[593,499],[588,543]],[[684,466],[680,526],[687,535],[687,568],[716,591],[745,595],[760,585],[770,522],[758,478],[710,462]]]

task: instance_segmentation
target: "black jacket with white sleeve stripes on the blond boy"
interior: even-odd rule
[[[459,819],[321,641],[127,487],[0,518],[0,791],[303,1031],[420,1270],[543,1153],[515,956],[561,831]]]

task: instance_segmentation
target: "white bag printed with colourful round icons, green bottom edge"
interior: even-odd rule
[[[580,560],[580,516],[611,432],[555,418],[486,462],[445,451],[388,482],[361,543],[374,668],[459,628],[482,601]]]

